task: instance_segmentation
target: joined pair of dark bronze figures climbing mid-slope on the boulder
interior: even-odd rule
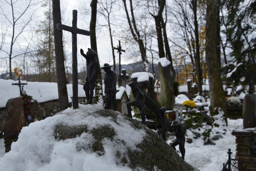
[[[166,134],[165,132],[169,130],[169,122],[166,117],[165,107],[161,107],[161,109],[157,106],[157,104],[150,99],[145,93],[142,93],[142,91],[136,86],[136,81],[130,82],[128,85],[132,88],[133,90],[133,96],[135,97],[135,101],[128,102],[126,104],[127,109],[128,109],[128,114],[130,118],[132,118],[132,111],[131,111],[131,106],[136,106],[140,110],[141,114],[141,119],[142,123],[146,124],[145,120],[145,112],[144,112],[144,105],[150,110],[154,115],[156,116],[157,119],[157,134],[162,134],[163,140],[166,140]]]

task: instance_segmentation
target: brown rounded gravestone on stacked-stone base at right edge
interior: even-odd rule
[[[255,94],[251,91],[246,94],[243,102],[243,125],[244,128],[256,127],[256,116],[255,116]]]

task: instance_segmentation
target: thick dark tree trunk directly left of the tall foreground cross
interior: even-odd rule
[[[66,85],[66,74],[64,66],[64,52],[62,42],[62,30],[56,28],[56,24],[61,24],[59,0],[53,0],[53,32],[55,44],[56,76],[59,94],[59,110],[62,111],[69,107],[68,91]]]

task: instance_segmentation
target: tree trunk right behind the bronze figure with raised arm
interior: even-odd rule
[[[90,41],[91,41],[91,49],[93,49],[97,54],[97,42],[96,42],[96,20],[97,20],[97,0],[92,0],[91,2],[91,9],[92,9],[92,14],[91,14],[91,21],[90,21]],[[98,55],[95,56],[96,60],[98,61],[99,64],[99,57]],[[99,67],[98,70],[98,75],[96,78],[96,85],[95,85],[95,102],[98,103],[100,99],[102,99],[102,79],[101,79],[101,70]],[[100,102],[103,103],[103,102]]]

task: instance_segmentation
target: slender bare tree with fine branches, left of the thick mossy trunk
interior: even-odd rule
[[[178,25],[180,39],[186,42],[184,51],[190,56],[190,60],[196,70],[197,79],[193,76],[194,82],[197,82],[198,92],[202,95],[202,69],[200,62],[200,41],[198,31],[198,21],[201,16],[198,16],[199,4],[197,0],[175,0],[177,9],[172,11]],[[180,31],[181,30],[181,31]],[[181,46],[180,46],[181,47]]]

